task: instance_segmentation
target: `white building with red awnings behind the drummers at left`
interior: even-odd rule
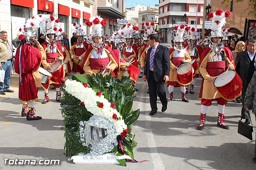
[[[59,18],[59,24],[69,39],[76,32],[72,26],[74,22],[86,26],[90,17],[101,15],[108,21],[104,34],[110,34],[116,29],[116,19],[124,18],[124,0],[1,0],[0,7],[0,30],[8,32],[10,41],[17,36],[17,23],[38,14],[52,14]],[[87,35],[91,29],[86,26]],[[46,26],[42,24],[38,33],[45,32]]]

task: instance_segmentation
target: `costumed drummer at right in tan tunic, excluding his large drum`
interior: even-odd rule
[[[202,53],[199,64],[203,79],[199,95],[199,99],[202,100],[200,123],[197,129],[202,130],[204,128],[207,109],[212,104],[213,100],[216,100],[218,103],[217,125],[221,128],[229,129],[228,125],[224,123],[224,108],[227,101],[218,93],[214,86],[213,79],[214,76],[220,75],[227,68],[234,70],[235,67],[232,53],[227,47],[223,47],[222,39],[220,43],[216,43],[216,40],[219,40],[218,38],[223,37],[221,28],[226,23],[226,18],[230,16],[230,12],[222,12],[222,10],[218,9],[214,13],[211,12],[208,16],[209,19],[212,19],[212,32],[210,36],[210,47],[206,48]]]

